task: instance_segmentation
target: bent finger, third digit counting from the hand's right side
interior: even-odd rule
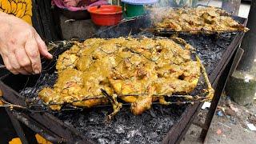
[[[31,66],[30,58],[26,54],[25,49],[16,49],[15,56],[16,56],[19,66],[21,66],[22,69],[26,70],[27,74],[33,74],[33,69]]]

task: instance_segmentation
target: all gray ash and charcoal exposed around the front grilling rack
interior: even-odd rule
[[[181,38],[196,48],[196,53],[210,74],[234,36],[235,34],[224,34],[217,38],[181,35]],[[54,74],[54,70],[51,71],[42,74],[36,86],[27,87],[21,94],[26,98],[38,98],[38,91],[42,87],[54,85],[57,74]],[[135,116],[131,114],[130,106],[124,106],[110,123],[105,122],[105,119],[112,111],[111,106],[50,113],[97,143],[160,143],[170,127],[181,118],[186,107],[187,105],[154,105],[144,114]]]

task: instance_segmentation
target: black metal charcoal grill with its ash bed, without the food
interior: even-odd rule
[[[246,24],[246,19],[244,18],[236,18],[239,22]],[[130,20],[127,22],[122,22],[118,26],[112,26],[105,29],[99,29],[98,33],[94,34],[93,37],[100,37],[100,38],[115,38],[119,36],[126,36],[128,34],[138,34],[139,28],[146,28],[148,26],[149,22],[148,18],[141,17],[136,18],[134,20]],[[216,110],[216,107],[218,105],[218,100],[220,98],[220,94],[222,93],[222,90],[224,86],[226,85],[226,79],[228,78],[230,74],[230,68],[231,66],[235,66],[234,59],[235,54],[238,51],[238,46],[242,41],[244,33],[238,32],[233,34],[222,34],[222,35],[180,35],[182,38],[184,38],[187,42],[189,42],[192,46],[194,46],[197,49],[198,56],[202,59],[206,66],[207,73],[209,74],[210,82],[212,83],[215,94],[214,99],[212,101],[212,105],[210,106],[210,111],[207,114],[206,122],[204,124],[200,124],[198,122],[194,122],[195,125],[202,127],[202,135],[201,138],[204,139],[206,137],[207,131],[210,127],[211,119],[214,116],[214,112]],[[232,69],[233,70],[233,69]],[[1,78],[0,82],[0,89],[3,93],[3,98],[7,102],[11,102],[20,106],[26,106],[26,98],[19,94],[21,90],[24,90],[26,87],[33,87],[35,85],[35,82],[38,80],[38,76],[24,76],[24,75],[13,75],[13,74],[6,74]],[[133,134],[130,134],[131,137],[134,136],[135,142],[145,141],[145,135],[147,133],[151,133],[155,130],[152,130],[151,125],[154,124],[154,122],[158,122],[157,118],[158,116],[165,116],[165,112],[162,112],[162,114],[154,114],[155,111],[164,109],[167,110],[169,114],[167,121],[162,122],[169,122],[169,127],[162,127],[162,131],[160,130],[157,135],[151,134],[150,137],[156,137],[159,140],[155,142],[162,142],[162,143],[178,143],[182,140],[184,134],[186,134],[186,131],[190,127],[191,123],[194,121],[194,118],[198,114],[198,110],[201,109],[202,103],[194,103],[194,104],[188,104],[188,105],[172,105],[170,107],[163,107],[161,106],[153,106],[153,111],[148,111],[147,114],[142,116],[132,116],[130,115],[130,122],[136,125],[136,122],[139,122],[137,120],[142,119],[141,128],[143,130],[147,130],[146,133],[140,133],[138,134],[138,131],[134,131]],[[15,130],[17,131],[20,138],[22,138],[23,143],[28,143],[28,139],[26,139],[25,136],[27,136],[26,133],[24,133],[24,130],[22,130],[22,126],[25,125],[26,127],[29,127],[31,130],[34,131],[34,133],[41,134],[44,138],[49,140],[50,142],[65,142],[65,143],[106,143],[106,142],[123,142],[122,138],[117,139],[114,137],[113,133],[118,134],[118,137],[126,137],[128,136],[123,133],[119,133],[116,130],[110,131],[110,136],[113,136],[113,141],[104,138],[92,138],[91,136],[88,137],[86,135],[86,130],[82,129],[82,125],[79,123],[83,123],[83,126],[88,127],[88,130],[94,129],[95,126],[97,126],[97,122],[100,122],[101,120],[96,121],[96,123],[93,123],[93,125],[86,124],[84,121],[86,121],[86,117],[83,117],[84,119],[79,120],[81,118],[81,115],[90,114],[98,114],[101,113],[101,111],[105,109],[104,107],[95,108],[94,110],[83,110],[83,111],[63,111],[59,114],[53,114],[48,112],[42,112],[42,113],[31,113],[26,110],[18,110],[13,109],[10,110],[10,108],[6,108],[7,113],[10,115],[10,119],[13,122],[13,125],[15,127]],[[122,121],[125,121],[126,118],[123,118],[122,115],[127,115],[126,111],[130,113],[130,111],[125,108],[120,112],[120,114],[117,115],[117,118],[122,118]],[[88,116],[88,115],[87,115]],[[166,116],[167,117],[167,116]],[[92,117],[94,118],[94,117]],[[97,117],[98,118],[98,117]],[[128,118],[128,117],[127,117]],[[94,120],[93,120],[94,121]],[[135,122],[133,122],[135,121]],[[86,121],[90,122],[90,121]],[[118,123],[118,120],[106,124],[106,125],[100,125],[102,126],[102,129],[107,126],[110,128],[111,125],[115,125],[114,123]],[[143,123],[144,122],[144,123]],[[151,122],[148,123],[148,126],[145,122]],[[128,123],[128,124],[129,124]],[[127,124],[127,125],[128,125]],[[126,125],[125,125],[126,126]],[[130,126],[130,125],[129,125]],[[150,127],[145,128],[145,127]],[[138,128],[139,129],[139,128]],[[87,130],[87,131],[88,131]],[[111,130],[111,129],[108,129]],[[163,132],[164,131],[164,132]],[[95,132],[95,131],[94,131]],[[97,132],[97,131],[96,131]],[[106,132],[106,131],[105,131]],[[112,134],[112,135],[111,135]],[[160,134],[160,135],[159,135]],[[144,136],[144,137],[143,137]],[[143,139],[144,138],[144,139]],[[111,137],[110,137],[111,139]],[[121,140],[120,140],[121,139]],[[129,139],[129,138],[128,138]],[[98,141],[97,141],[98,140]]]

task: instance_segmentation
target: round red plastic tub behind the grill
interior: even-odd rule
[[[92,21],[98,26],[114,26],[122,20],[121,6],[91,6],[88,11]]]

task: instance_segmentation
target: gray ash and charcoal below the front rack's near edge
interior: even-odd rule
[[[178,120],[185,106],[152,106],[142,115],[123,107],[111,122],[105,122],[108,107],[54,114],[98,143],[159,143]]]

